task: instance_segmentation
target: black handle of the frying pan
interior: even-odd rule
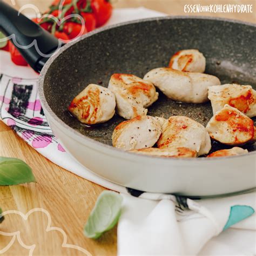
[[[50,55],[62,45],[48,31],[23,14],[18,14],[17,10],[2,0],[0,0],[0,30],[6,36],[12,36],[12,43],[32,69],[37,72],[42,70]],[[31,47],[24,47],[28,45]]]

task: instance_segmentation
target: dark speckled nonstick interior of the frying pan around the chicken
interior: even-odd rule
[[[117,114],[101,125],[87,127],[67,111],[71,100],[90,83],[107,87],[113,73],[143,77],[167,66],[182,49],[199,49],[206,57],[205,73],[221,83],[250,84],[256,89],[256,27],[218,19],[164,18],[117,26],[73,44],[50,65],[44,79],[46,101],[52,111],[79,133],[112,145],[112,132],[124,119]],[[148,114],[168,118],[182,115],[204,126],[212,117],[211,104],[174,102],[163,93]],[[254,119],[255,123],[255,119]],[[213,143],[212,151],[223,148]],[[256,150],[247,145],[249,151]]]

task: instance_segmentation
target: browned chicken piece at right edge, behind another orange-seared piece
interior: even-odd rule
[[[228,104],[246,114],[247,117],[256,116],[256,91],[251,85],[211,86],[208,89],[208,99],[211,100],[213,114]]]

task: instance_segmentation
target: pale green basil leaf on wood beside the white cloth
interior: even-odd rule
[[[123,198],[119,193],[103,191],[85,224],[86,237],[97,239],[104,232],[111,230],[120,217],[122,201]]]

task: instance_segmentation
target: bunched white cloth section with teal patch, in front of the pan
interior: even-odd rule
[[[256,219],[255,214],[251,215],[256,206],[255,193],[222,199],[188,199],[190,210],[181,210],[173,196],[168,195],[161,195],[159,200],[126,195],[123,198],[118,223],[119,255],[256,253]],[[230,225],[232,228],[227,229]]]

